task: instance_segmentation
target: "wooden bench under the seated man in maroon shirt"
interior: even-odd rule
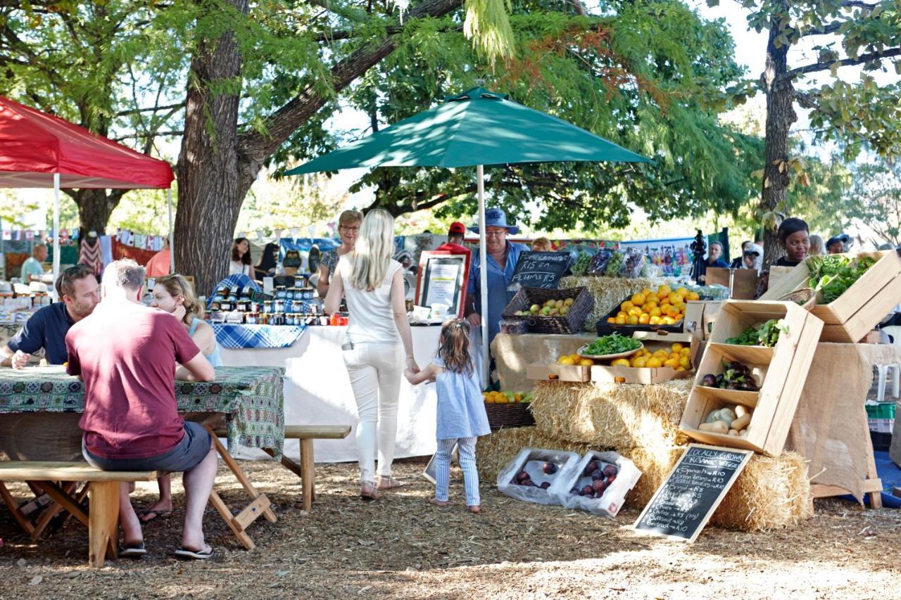
[[[4,481],[27,481],[42,490],[78,521],[86,524],[88,562],[91,567],[103,567],[107,556],[116,558],[119,550],[119,483],[123,481],[153,481],[156,471],[102,471],[86,462],[47,462],[39,460],[0,461],[0,496],[14,519],[29,533],[33,525],[21,513]],[[75,486],[59,486],[58,482],[87,483],[89,509],[87,513],[80,499],[73,496]]]

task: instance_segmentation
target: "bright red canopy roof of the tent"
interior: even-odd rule
[[[0,187],[165,188],[165,160],[0,96]]]

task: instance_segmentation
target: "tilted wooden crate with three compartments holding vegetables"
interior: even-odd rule
[[[788,331],[774,348],[724,343],[752,325],[783,319]],[[807,371],[814,359],[823,322],[790,302],[724,302],[704,358],[696,368],[695,386],[688,396],[679,430],[688,437],[718,446],[778,454],[785,447]],[[718,389],[700,385],[707,373],[723,371],[724,361],[738,360],[751,368],[760,391]],[[710,411],[726,405],[744,405],[752,410],[748,436],[739,438],[697,429]]]

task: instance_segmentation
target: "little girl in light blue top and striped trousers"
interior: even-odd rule
[[[435,381],[438,394],[438,452],[435,454],[435,495],[429,503],[448,505],[451,452],[456,444],[466,486],[466,505],[481,510],[476,471],[476,439],[491,432],[482,399],[481,372],[469,354],[469,323],[449,319],[441,325],[438,352],[418,373],[404,375],[411,384]]]

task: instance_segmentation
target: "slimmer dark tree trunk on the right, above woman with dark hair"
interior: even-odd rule
[[[787,2],[783,0],[787,14]],[[776,17],[774,17],[776,18]],[[763,72],[763,84],[767,92],[767,128],[764,142],[765,164],[763,168],[763,191],[760,209],[763,213],[785,206],[788,188],[788,132],[797,115],[794,110],[795,91],[791,78],[787,76],[787,54],[790,45],[776,47],[775,40],[782,27],[771,23],[767,42],[767,62]],[[778,244],[776,229],[763,227],[763,263],[775,262],[785,252]]]

